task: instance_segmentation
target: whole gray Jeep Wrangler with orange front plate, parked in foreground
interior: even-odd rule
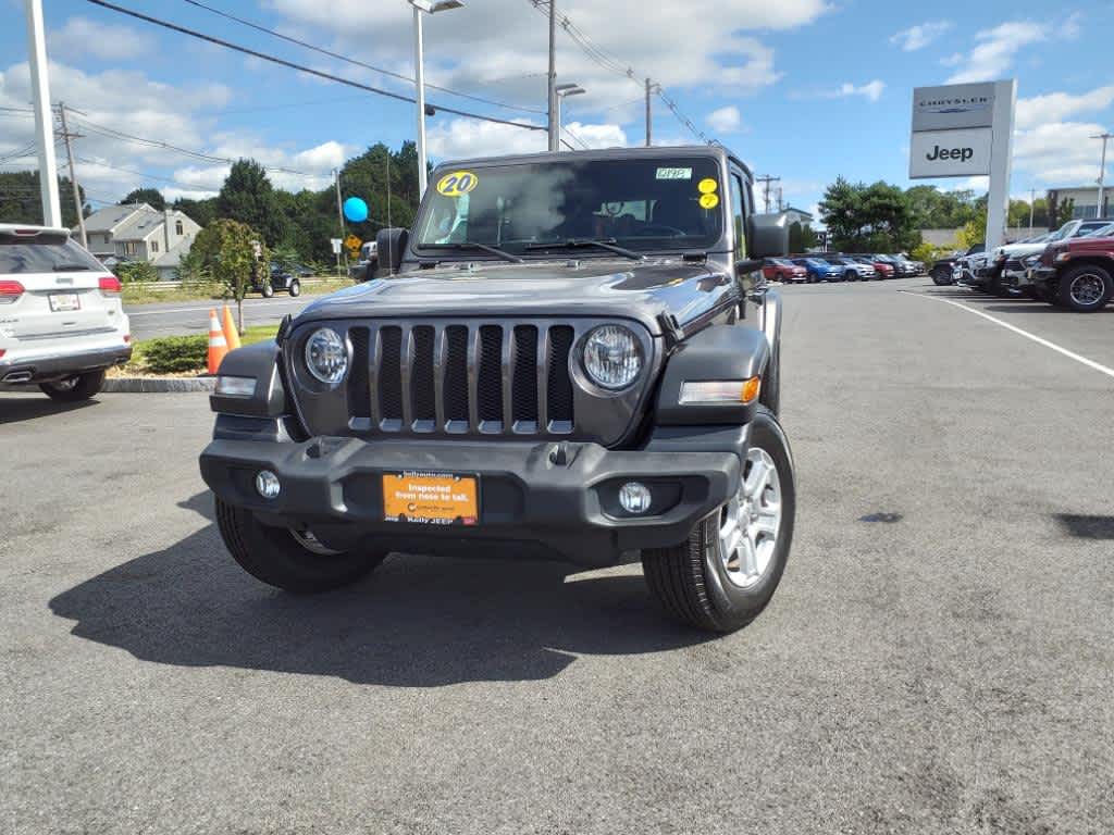
[[[641,556],[664,609],[731,631],[793,536],[778,422],[780,216],[721,147],[439,168],[380,277],[221,366],[201,470],[232,556],[294,592],[390,552]]]

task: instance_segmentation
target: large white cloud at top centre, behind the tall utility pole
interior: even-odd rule
[[[405,3],[377,3],[374,14],[368,13],[365,0],[271,0],[270,6],[285,18],[285,28],[303,37],[317,30],[314,39],[323,33],[342,52],[374,55],[377,66],[412,71],[412,18]],[[637,95],[636,84],[647,73],[668,89],[706,87],[746,95],[780,78],[774,52],[759,40],[761,33],[811,23],[830,8],[828,0],[688,0],[661,3],[647,13],[644,0],[561,0],[559,13],[598,49],[633,68],[634,82],[592,60],[564,28],[557,43],[559,72],[587,89],[577,98],[577,110],[597,116]],[[700,20],[730,26],[694,26]],[[426,42],[432,84],[544,109],[547,28],[530,3],[472,0],[463,9],[429,17]],[[444,94],[431,98],[447,100]]]

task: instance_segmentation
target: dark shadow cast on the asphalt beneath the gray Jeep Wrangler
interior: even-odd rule
[[[212,520],[212,499],[180,507]],[[566,579],[567,578],[567,579]],[[395,554],[340,591],[295,597],[246,574],[213,524],[50,601],[72,635],[137,658],[438,687],[536,680],[587,655],[656,652],[710,639],[665,620],[641,573],[547,562]]]

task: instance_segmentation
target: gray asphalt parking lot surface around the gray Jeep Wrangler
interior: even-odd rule
[[[784,296],[797,537],[720,639],[634,566],[275,592],[213,527],[204,395],[0,395],[2,828],[1114,829],[1114,376],[971,312],[1110,369],[1114,308]]]

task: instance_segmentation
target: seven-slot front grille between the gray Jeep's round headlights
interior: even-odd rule
[[[356,432],[569,434],[570,324],[405,322],[349,328]]]

